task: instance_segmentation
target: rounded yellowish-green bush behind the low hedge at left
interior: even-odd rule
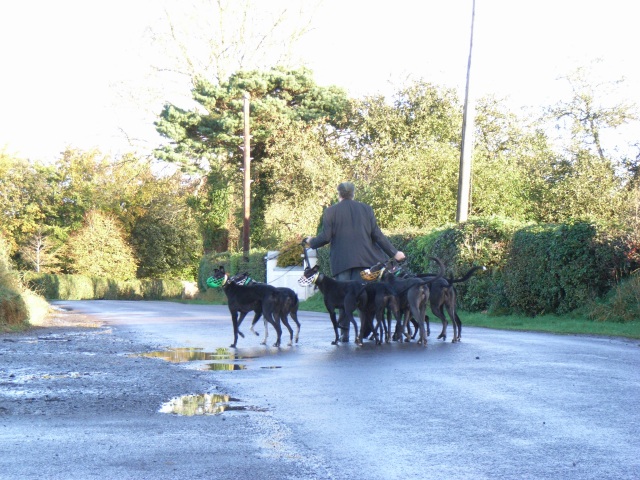
[[[97,211],[86,215],[84,226],[69,239],[65,256],[71,273],[123,280],[136,276],[133,250],[122,229],[113,217]]]

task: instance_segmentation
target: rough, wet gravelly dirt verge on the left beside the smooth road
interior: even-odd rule
[[[11,453],[0,479],[326,478],[272,441],[267,412],[163,413],[178,397],[227,392],[214,371],[142,355],[158,350],[64,311],[0,334],[0,451]]]

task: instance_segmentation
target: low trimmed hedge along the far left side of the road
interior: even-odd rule
[[[163,300],[180,298],[180,280],[112,280],[84,275],[24,274],[29,289],[48,300]]]

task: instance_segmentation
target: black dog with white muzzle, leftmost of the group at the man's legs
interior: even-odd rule
[[[336,338],[331,345],[337,345],[339,342],[338,335],[338,320],[336,319],[336,310],[339,312],[339,318],[347,319],[347,325],[351,323],[355,330],[356,343],[361,345],[362,339],[358,336],[358,324],[355,318],[353,318],[353,312],[355,312],[358,306],[362,306],[361,296],[364,290],[364,282],[352,280],[348,282],[339,282],[333,278],[319,272],[319,266],[305,268],[304,275],[298,280],[301,285],[310,285],[315,283],[318,289],[322,292],[324,299],[324,306],[329,312],[333,330],[336,334]]]

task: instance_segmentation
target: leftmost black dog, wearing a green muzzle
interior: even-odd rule
[[[231,322],[233,324],[233,343],[231,344],[231,348],[235,348],[238,343],[240,322],[248,312],[252,311],[256,312],[256,316],[259,314],[263,315],[264,319],[273,325],[278,335],[276,343],[274,343],[273,346],[279,347],[282,329],[280,328],[280,322],[274,320],[274,313],[277,312],[278,309],[278,290],[266,284],[256,283],[255,285],[245,286],[231,283],[228,281],[229,276],[222,265],[214,269],[213,278],[221,281],[222,288],[227,296]],[[242,314],[240,320],[238,319],[239,313]],[[244,335],[242,336],[244,337]]]

